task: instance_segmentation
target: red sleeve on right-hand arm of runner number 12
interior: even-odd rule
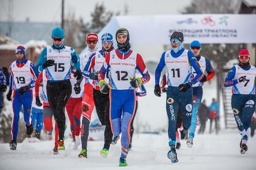
[[[148,73],[146,69],[146,65],[141,57],[141,55],[137,54],[136,58],[136,69],[139,70],[140,74],[142,75],[142,84],[145,84],[146,82],[150,81],[150,74]]]

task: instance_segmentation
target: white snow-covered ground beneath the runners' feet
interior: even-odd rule
[[[127,167],[119,167],[120,140],[111,145],[108,158],[102,158],[99,151],[103,141],[89,141],[88,158],[78,158],[79,150],[73,150],[71,138],[65,141],[66,150],[53,155],[53,140],[17,144],[17,150],[11,151],[8,143],[0,144],[0,169],[255,169],[256,136],[248,141],[248,151],[240,154],[240,136],[237,130],[223,130],[219,135],[196,135],[193,148],[188,148],[186,140],[181,140],[177,150],[178,163],[167,158],[168,138],[160,135],[134,135],[132,150],[127,156]]]

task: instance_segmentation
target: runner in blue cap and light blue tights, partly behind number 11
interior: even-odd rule
[[[215,71],[211,67],[210,61],[205,57],[200,55],[202,50],[201,43],[199,41],[192,41],[190,43],[190,51],[197,57],[197,61],[199,62],[203,73],[207,72],[207,76],[204,75],[203,79],[193,85],[193,109],[192,109],[192,117],[191,117],[191,125],[189,127],[189,135],[187,138],[187,147],[191,148],[193,146],[193,138],[195,136],[195,131],[197,127],[197,111],[201,105],[202,96],[203,96],[203,88],[204,82],[211,80]],[[196,74],[195,69],[193,68],[193,77]]]

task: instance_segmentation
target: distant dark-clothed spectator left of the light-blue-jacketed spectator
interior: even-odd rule
[[[205,100],[201,103],[201,106],[198,109],[198,116],[201,122],[200,129],[198,131],[198,134],[203,134],[205,129],[206,120],[209,118],[210,110],[205,105]]]

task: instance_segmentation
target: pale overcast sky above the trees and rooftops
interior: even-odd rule
[[[75,17],[82,17],[84,21],[91,19],[91,12],[95,5],[104,3],[107,11],[128,15],[169,15],[179,14],[192,0],[65,0],[65,17],[75,13]],[[9,12],[12,11],[12,12]],[[9,17],[8,17],[8,14]],[[60,22],[61,0],[0,0],[0,21]]]

